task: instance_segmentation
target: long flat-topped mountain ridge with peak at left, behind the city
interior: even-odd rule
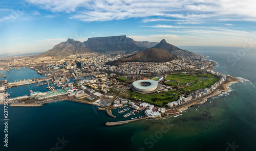
[[[136,43],[139,43],[138,46]],[[115,51],[144,51],[147,46],[155,44],[154,42],[142,41],[138,42],[132,38],[121,36],[109,36],[109,37],[92,37],[87,41],[80,42],[74,39],[68,38],[65,42],[60,42],[47,52],[41,53],[35,57],[67,57],[76,53],[91,53],[91,52],[115,52]]]

